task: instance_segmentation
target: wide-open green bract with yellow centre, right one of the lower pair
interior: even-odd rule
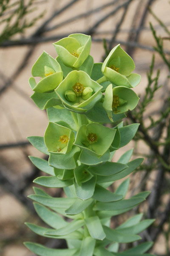
[[[102,156],[110,148],[116,130],[92,123],[80,126],[74,145]]]

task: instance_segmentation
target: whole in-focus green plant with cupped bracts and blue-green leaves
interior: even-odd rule
[[[115,151],[127,145],[139,127],[135,123],[124,125],[122,121],[125,112],[133,110],[139,101],[131,89],[140,81],[140,76],[132,73],[134,62],[118,45],[103,64],[94,64],[89,55],[91,37],[82,34],[63,38],[54,47],[59,56],[55,59],[43,52],[32,68],[32,75],[41,79],[37,84],[34,78],[29,80],[35,91],[31,98],[40,109],[47,108],[49,124],[44,137],[33,136],[28,140],[49,156],[48,162],[30,157],[37,168],[48,174],[37,177],[34,183],[64,188],[66,197],[51,197],[34,188],[35,194],[29,198],[36,201],[37,214],[50,227],[26,225],[41,236],[65,239],[68,249],[25,244],[40,256],[149,256],[144,253],[150,243],[132,251],[118,251],[120,243],[141,239],[137,234],[154,220],[142,220],[142,214],[138,214],[114,229],[110,227],[112,216],[133,209],[149,195],[141,192],[125,198],[129,178],[114,192],[108,189],[143,161],[130,161],[132,149],[117,163],[111,161]],[[105,123],[111,123],[113,128]],[[61,215],[72,221],[66,222]]]

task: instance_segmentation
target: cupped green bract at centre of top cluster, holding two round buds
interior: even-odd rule
[[[74,111],[85,111],[83,107],[88,108],[89,104],[93,106],[92,103],[96,103],[95,98],[101,89],[102,86],[92,80],[87,73],[82,70],[73,70],[59,84],[55,92],[67,108]],[[83,94],[84,90],[86,91]]]

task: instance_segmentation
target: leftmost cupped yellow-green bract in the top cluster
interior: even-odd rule
[[[38,83],[36,83],[34,77],[30,77],[29,79],[31,89],[38,93],[49,93],[54,91],[63,78],[62,69],[59,63],[47,52],[43,52],[42,55],[40,55],[34,63],[31,73],[32,76],[41,77]]]

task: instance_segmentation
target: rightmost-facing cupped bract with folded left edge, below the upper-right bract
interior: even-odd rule
[[[105,90],[103,108],[108,113],[109,119],[113,122],[113,114],[120,114],[125,113],[128,110],[133,110],[138,102],[139,97],[132,89],[125,86],[112,88],[112,84],[109,84]]]

